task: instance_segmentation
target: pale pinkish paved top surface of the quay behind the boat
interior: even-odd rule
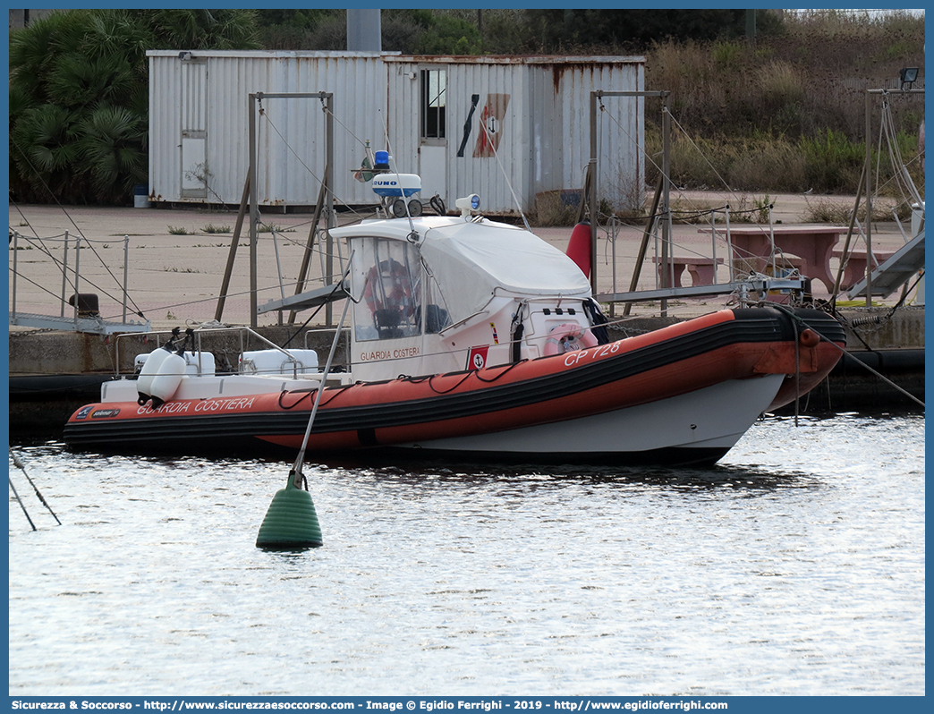
[[[772,220],[786,225],[803,225],[810,213],[811,196],[781,194],[770,197]],[[735,195],[718,193],[680,193],[682,207],[736,206]],[[820,197],[839,207],[853,207],[855,197]],[[748,199],[746,201],[748,203]],[[339,214],[340,222],[356,221],[362,216],[354,212]],[[302,262],[312,216],[307,213],[282,213],[267,210],[262,221],[266,228],[259,234],[257,248],[257,303],[262,304],[294,293],[295,280]],[[216,316],[220,287],[231,250],[235,209],[214,208],[130,208],[130,207],[57,207],[10,206],[11,231],[21,234],[19,250],[11,255],[17,263],[15,307],[18,312],[65,316],[72,314],[64,302],[72,293],[98,295],[101,317],[108,321],[149,320],[153,329],[171,329],[177,325],[213,321]],[[735,225],[735,223],[734,223]],[[744,224],[748,226],[748,224]],[[276,232],[270,230],[276,228]],[[767,226],[762,226],[768,231]],[[620,226],[615,238],[598,233],[597,293],[623,293],[630,289],[633,265],[639,253],[644,227]],[[727,255],[726,243],[715,241],[707,225],[675,224],[672,241],[675,254],[718,258]],[[906,228],[907,230],[907,228]],[[68,249],[64,235],[68,232]],[[79,281],[63,287],[62,264],[74,269],[75,236],[86,238],[81,250]],[[535,233],[565,250],[571,237],[570,226],[535,228]],[[51,239],[52,236],[57,236]],[[904,237],[894,222],[873,223],[872,247],[876,251],[893,251],[904,243]],[[648,247],[654,254],[655,245]],[[67,253],[67,254],[66,254]],[[234,324],[249,324],[249,250],[247,236],[241,236],[236,248],[233,272],[221,320]],[[124,256],[126,278],[124,280]],[[322,252],[315,246],[306,290],[324,284]],[[336,264],[336,261],[335,261]],[[839,259],[830,261],[836,271]],[[646,258],[638,290],[657,287],[657,278],[649,258]],[[281,284],[280,284],[281,277]],[[729,268],[720,265],[718,282],[729,279]],[[123,286],[126,286],[124,307]],[[12,289],[12,280],[11,280]],[[10,303],[13,303],[12,290]],[[827,289],[814,281],[814,297],[826,299]],[[883,301],[894,305],[899,295]],[[726,297],[669,301],[669,314],[697,315],[720,307]],[[876,303],[879,301],[876,300]],[[865,299],[861,304],[865,304]],[[618,308],[621,310],[621,307]],[[633,305],[633,316],[658,314],[657,304]],[[323,315],[323,313],[322,313]],[[301,315],[302,320],[306,315]],[[275,313],[259,317],[261,326],[275,325]],[[13,328],[16,329],[16,328]]]

